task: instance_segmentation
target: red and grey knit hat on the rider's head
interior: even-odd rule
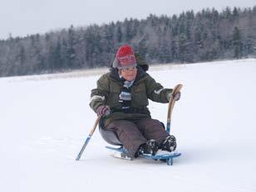
[[[116,67],[118,69],[125,69],[131,66],[136,66],[136,59],[131,46],[124,45],[117,50],[116,53]]]

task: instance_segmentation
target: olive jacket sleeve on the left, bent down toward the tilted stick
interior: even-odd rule
[[[90,107],[96,112],[100,105],[106,104],[106,100],[109,96],[109,79],[106,74],[103,74],[100,79],[97,80],[96,89],[91,90]]]

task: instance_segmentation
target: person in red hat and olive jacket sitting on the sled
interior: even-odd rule
[[[97,81],[91,90],[91,108],[101,115],[106,130],[116,132],[131,158],[141,154],[175,151],[175,137],[165,131],[162,123],[152,119],[147,108],[150,98],[168,103],[173,89],[164,89],[150,74],[137,65],[133,49],[119,48],[110,72]],[[180,92],[175,100],[180,99]]]

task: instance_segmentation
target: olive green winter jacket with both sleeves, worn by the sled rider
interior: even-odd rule
[[[150,98],[159,103],[168,103],[167,94],[172,89],[164,89],[163,86],[155,82],[150,74],[145,73],[137,67],[137,75],[134,83],[130,87],[131,113],[123,113],[122,105],[119,102],[119,95],[123,87],[118,70],[111,68],[109,73],[103,74],[97,81],[96,89],[91,90],[91,108],[96,112],[100,105],[111,107],[111,114],[104,117],[105,126],[113,120],[126,119],[136,120],[140,118],[150,118],[150,111],[147,108]]]

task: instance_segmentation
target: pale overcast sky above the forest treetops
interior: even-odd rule
[[[73,24],[101,25],[150,13],[171,16],[205,7],[253,7],[255,0],[0,0],[0,39],[67,28]]]

